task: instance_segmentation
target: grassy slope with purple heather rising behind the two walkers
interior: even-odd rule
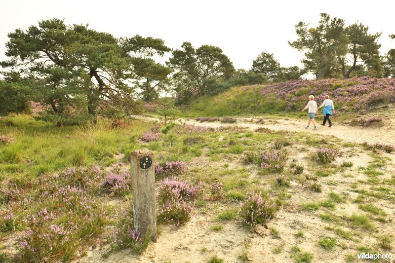
[[[292,80],[267,85],[237,86],[216,96],[205,96],[183,111],[187,116],[231,116],[288,114],[298,116],[316,96],[318,105],[328,94],[337,113],[370,113],[395,102],[394,78],[354,77],[350,79]]]

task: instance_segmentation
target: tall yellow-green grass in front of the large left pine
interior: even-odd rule
[[[28,115],[8,116],[0,120],[0,135],[12,134],[9,145],[0,148],[0,175],[33,175],[53,172],[68,166],[99,163],[108,166],[114,156],[128,156],[138,138],[150,124],[132,121],[130,128],[113,129],[111,122],[56,127],[36,121]]]

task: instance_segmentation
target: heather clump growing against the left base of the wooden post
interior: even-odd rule
[[[133,205],[120,219],[114,230],[115,242],[120,248],[131,248],[136,254],[143,252],[148,245],[149,238],[142,239],[134,229]]]

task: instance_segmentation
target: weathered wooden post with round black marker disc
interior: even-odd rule
[[[150,150],[131,153],[134,228],[157,241],[155,156]]]

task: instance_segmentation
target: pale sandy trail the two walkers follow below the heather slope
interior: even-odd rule
[[[321,115],[322,116],[322,115]],[[320,116],[320,117],[321,117]],[[158,120],[155,117],[142,117],[135,116],[136,118],[146,119],[146,120]],[[289,131],[307,131],[314,132],[322,135],[333,135],[342,140],[352,142],[352,143],[387,143],[395,144],[395,120],[390,119],[385,122],[384,126],[380,127],[360,127],[360,126],[350,126],[346,124],[341,124],[334,122],[332,127],[321,126],[321,118],[317,119],[317,131],[313,131],[313,125],[310,125],[310,129],[306,130],[304,127],[307,124],[307,120],[295,120],[295,119],[274,119],[265,117],[238,117],[235,123],[221,123],[219,121],[215,122],[200,122],[195,119],[179,119],[187,124],[192,124],[196,126],[205,127],[219,127],[219,126],[240,126],[247,127],[249,130],[255,130],[260,127],[268,128],[271,130],[289,130]],[[256,123],[259,119],[263,119],[265,123]],[[178,120],[177,120],[178,121]]]

